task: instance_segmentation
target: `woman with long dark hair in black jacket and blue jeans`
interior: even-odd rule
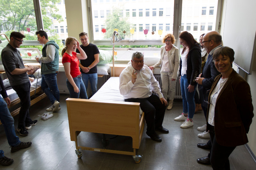
[[[180,33],[180,44],[183,50],[180,56],[180,89],[183,101],[183,113],[176,117],[175,121],[184,121],[180,127],[193,126],[195,113],[194,96],[196,91],[196,77],[201,71],[201,47],[191,33],[184,31]]]

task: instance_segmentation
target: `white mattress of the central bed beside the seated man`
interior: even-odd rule
[[[124,101],[123,95],[119,92],[119,77],[109,78],[90,99]]]

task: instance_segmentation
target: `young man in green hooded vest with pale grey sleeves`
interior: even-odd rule
[[[44,44],[42,56],[36,57],[36,61],[41,62],[41,87],[52,103],[52,106],[47,108],[46,111],[55,112],[60,110],[60,91],[57,85],[57,73],[59,72],[59,45],[53,40],[49,41],[47,33],[43,30],[37,31],[36,35],[37,41],[39,41],[40,44]],[[44,116],[49,119],[53,115],[49,114]]]

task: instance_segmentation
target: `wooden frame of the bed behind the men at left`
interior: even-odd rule
[[[36,89],[30,91],[30,97],[35,94],[35,90],[36,90],[36,94],[37,94],[37,93],[39,93],[39,92],[42,91],[42,88],[41,88],[41,86],[39,86],[39,87],[37,87]],[[32,106],[33,104],[35,104],[36,102],[38,102],[38,101],[44,99],[45,97],[46,97],[46,94],[43,93],[43,94],[37,96],[35,99],[32,99],[31,102],[30,102],[30,103],[31,103],[31,106]],[[12,100],[12,101],[11,101],[11,104],[8,106],[8,108],[13,107],[14,105],[16,105],[16,104],[18,104],[18,103],[20,103],[20,98],[17,98],[17,99],[15,99],[15,100]],[[19,114],[19,111],[20,111],[20,107],[17,108],[16,110],[12,111],[12,112],[11,112],[12,117],[18,115],[18,114]],[[0,124],[2,124],[1,121],[0,121]]]

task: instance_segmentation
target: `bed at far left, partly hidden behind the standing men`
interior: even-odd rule
[[[38,78],[37,86],[36,86],[36,79],[33,82],[30,82],[30,84],[31,84],[30,97],[32,97],[31,98],[31,106],[46,97],[46,94],[42,93],[41,80],[42,80],[42,78]],[[35,94],[35,91],[36,91],[36,94]],[[15,90],[9,89],[9,90],[6,90],[6,92],[8,94],[8,97],[11,100],[11,104],[8,106],[9,109],[20,103],[20,98],[18,97]],[[39,94],[39,96],[38,96],[38,94]],[[20,107],[13,110],[11,112],[12,117],[14,117],[15,115],[18,115],[19,111],[20,111]],[[2,124],[2,123],[0,122],[0,124]]]

